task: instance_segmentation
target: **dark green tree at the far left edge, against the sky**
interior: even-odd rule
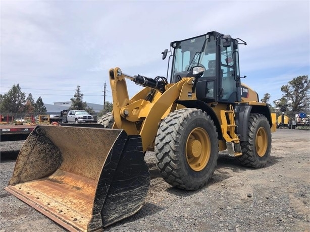
[[[20,113],[24,112],[24,104],[26,103],[25,93],[21,91],[19,84],[13,87],[4,95],[1,95],[1,111]]]

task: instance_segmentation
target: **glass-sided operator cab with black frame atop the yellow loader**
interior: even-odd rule
[[[192,77],[192,68],[200,66],[205,71],[196,84],[197,99],[204,102],[241,101],[237,39],[213,31],[170,45],[173,48],[170,83]],[[167,54],[167,50],[165,52]]]

